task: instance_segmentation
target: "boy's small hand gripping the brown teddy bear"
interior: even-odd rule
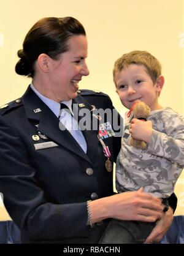
[[[153,125],[151,121],[142,121],[137,118],[133,118],[130,123],[129,133],[133,139],[139,139],[139,141],[150,142],[153,131]]]

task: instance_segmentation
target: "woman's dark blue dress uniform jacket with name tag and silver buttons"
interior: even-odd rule
[[[90,90],[82,90],[73,101],[90,109],[90,118],[95,118],[91,104],[113,109],[109,96]],[[113,194],[112,172],[105,169],[98,130],[83,131],[85,154],[69,131],[59,130],[58,118],[30,87],[0,115],[0,191],[21,230],[21,241],[98,242],[108,220],[87,226],[86,201]],[[34,144],[48,141],[57,146],[36,150]],[[104,139],[111,161],[117,158],[120,141]]]

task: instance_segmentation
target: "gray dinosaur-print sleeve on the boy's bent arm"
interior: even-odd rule
[[[184,118],[172,115],[164,126],[164,132],[153,130],[147,150],[184,167]]]

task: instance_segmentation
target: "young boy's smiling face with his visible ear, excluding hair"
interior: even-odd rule
[[[161,108],[158,104],[158,96],[164,84],[162,76],[153,83],[143,65],[130,64],[117,71],[114,80],[121,103],[128,109],[131,109],[137,100],[144,101],[151,111]]]

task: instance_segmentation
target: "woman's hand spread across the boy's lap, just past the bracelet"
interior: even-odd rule
[[[163,217],[164,206],[160,199],[140,188],[91,201],[90,208],[93,223],[107,218],[155,222]]]

